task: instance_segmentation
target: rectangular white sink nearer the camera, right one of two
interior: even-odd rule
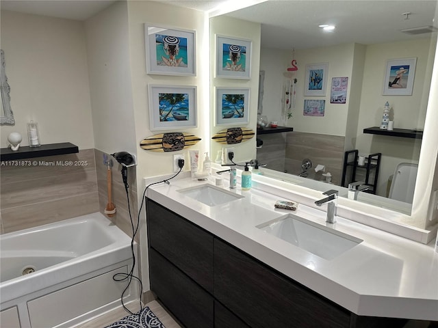
[[[326,260],[332,260],[363,241],[291,214],[262,223],[257,228]]]

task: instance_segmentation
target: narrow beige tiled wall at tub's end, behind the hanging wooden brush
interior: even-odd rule
[[[103,155],[105,153],[101,150],[94,150],[96,158],[96,176],[97,189],[99,192],[99,212],[104,213],[105,206],[108,202],[107,189],[107,165],[104,164]],[[122,166],[117,161],[106,154],[108,159],[112,159],[113,166],[111,167],[112,176],[112,202],[116,206],[116,214],[113,217],[108,217],[118,228],[123,230],[128,236],[132,236],[131,219],[128,211],[127,193],[125,184],[123,184],[121,169]],[[128,195],[129,207],[131,208],[131,217],[133,219],[134,227],[138,221],[138,206],[137,206],[137,184],[136,184],[136,167],[128,167]],[[136,235],[136,241],[139,242],[139,236]]]

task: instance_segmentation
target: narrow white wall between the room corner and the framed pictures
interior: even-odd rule
[[[127,3],[116,1],[85,29],[95,148],[136,154]]]

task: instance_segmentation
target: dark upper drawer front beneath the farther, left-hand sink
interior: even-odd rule
[[[213,235],[149,200],[150,247],[213,294]]]

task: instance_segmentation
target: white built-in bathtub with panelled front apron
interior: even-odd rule
[[[101,213],[3,234],[0,254],[2,327],[73,327],[114,310],[127,282],[113,276],[132,265],[131,238]],[[124,302],[138,295],[132,284]]]

